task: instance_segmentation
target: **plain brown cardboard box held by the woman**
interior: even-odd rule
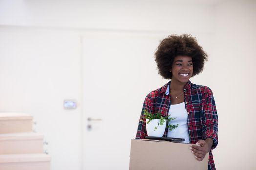
[[[129,170],[207,170],[208,155],[195,159],[190,144],[158,140],[131,140]]]

